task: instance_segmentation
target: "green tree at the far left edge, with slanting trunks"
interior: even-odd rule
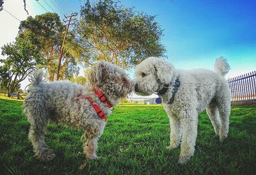
[[[6,59],[0,59],[0,63],[3,63],[1,69],[4,76],[7,77],[7,82],[4,82],[4,85],[8,96],[20,88],[20,82],[26,79],[36,65],[42,63],[38,47],[31,42],[32,40],[28,33],[23,33],[17,36],[15,42],[1,47],[2,55],[7,56]]]

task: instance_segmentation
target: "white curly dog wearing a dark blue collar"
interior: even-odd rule
[[[179,163],[187,162],[195,151],[198,115],[206,108],[220,141],[227,137],[230,116],[230,90],[224,79],[230,66],[225,58],[216,59],[211,70],[177,70],[157,57],[142,61],[135,72],[138,95],[157,93],[170,118],[170,146],[180,144]]]

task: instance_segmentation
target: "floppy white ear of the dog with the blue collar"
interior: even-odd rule
[[[157,79],[163,84],[169,84],[172,80],[174,66],[159,60],[154,65]]]

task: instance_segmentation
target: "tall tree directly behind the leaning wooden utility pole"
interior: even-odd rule
[[[53,81],[58,69],[61,44],[65,26],[56,13],[44,13],[35,18],[28,17],[20,22],[19,34],[28,32],[33,36],[33,42],[40,49],[40,56],[44,60],[41,67],[49,73],[49,80]],[[77,73],[77,59],[79,57],[79,45],[74,40],[74,33],[68,33],[63,52],[63,61],[60,70],[60,79],[69,79]]]

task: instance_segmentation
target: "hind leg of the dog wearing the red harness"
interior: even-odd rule
[[[33,144],[35,156],[42,161],[49,161],[54,158],[55,154],[45,144],[45,129],[48,123],[46,112],[42,107],[30,110],[28,121],[31,124],[29,130],[29,141]]]

